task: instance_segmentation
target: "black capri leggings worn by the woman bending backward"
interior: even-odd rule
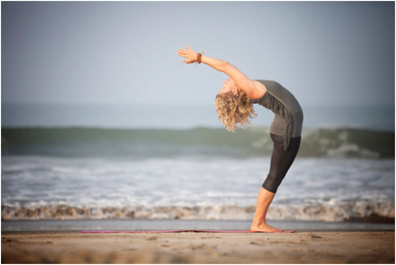
[[[289,148],[285,151],[283,144],[283,136],[270,133],[274,142],[274,150],[271,156],[270,173],[263,183],[263,188],[276,193],[282,180],[285,178],[290,166],[296,158],[301,136],[290,138]]]

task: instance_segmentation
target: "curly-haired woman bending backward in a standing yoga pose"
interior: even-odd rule
[[[279,232],[266,222],[266,215],[277,189],[292,165],[300,145],[303,113],[297,99],[279,83],[269,80],[250,80],[232,64],[193,51],[186,46],[178,54],[184,63],[204,63],[227,74],[230,79],[216,96],[215,107],[219,120],[228,131],[237,124],[244,127],[256,116],[252,104],[259,104],[275,113],[270,135],[274,142],[270,172],[257,196],[257,207],[250,230],[252,232]]]

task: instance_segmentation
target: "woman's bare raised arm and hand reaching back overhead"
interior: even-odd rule
[[[183,60],[186,64],[195,63],[197,61],[198,52],[190,49],[186,46],[187,50],[180,49],[178,51],[179,56],[186,58]],[[210,67],[227,74],[229,77],[234,79],[237,86],[243,90],[249,98],[260,98],[267,91],[266,87],[255,80],[250,80],[244,73],[239,71],[235,66],[229,62],[212,58],[209,56],[202,55],[201,62],[209,65]]]

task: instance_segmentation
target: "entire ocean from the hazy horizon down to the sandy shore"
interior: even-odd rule
[[[141,121],[131,114],[139,126],[122,128],[127,117],[118,117],[120,109],[88,115],[78,108],[7,108],[1,106],[2,229],[7,221],[37,220],[199,220],[217,221],[221,229],[253,219],[270,166],[272,142],[264,125],[271,117],[229,133],[188,111],[181,118],[188,125],[172,125],[177,117],[164,109],[163,126],[150,124],[155,112],[146,112]],[[23,112],[30,119],[18,118]],[[356,118],[346,127],[345,117],[330,126],[332,115],[304,116],[300,151],[268,220],[394,224],[392,126],[375,119],[370,127]]]

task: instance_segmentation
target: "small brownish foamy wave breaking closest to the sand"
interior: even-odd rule
[[[47,205],[34,208],[1,206],[1,221],[84,219],[253,220],[254,206],[72,207]],[[395,202],[358,202],[335,205],[273,205],[271,220],[319,222],[395,223]]]

